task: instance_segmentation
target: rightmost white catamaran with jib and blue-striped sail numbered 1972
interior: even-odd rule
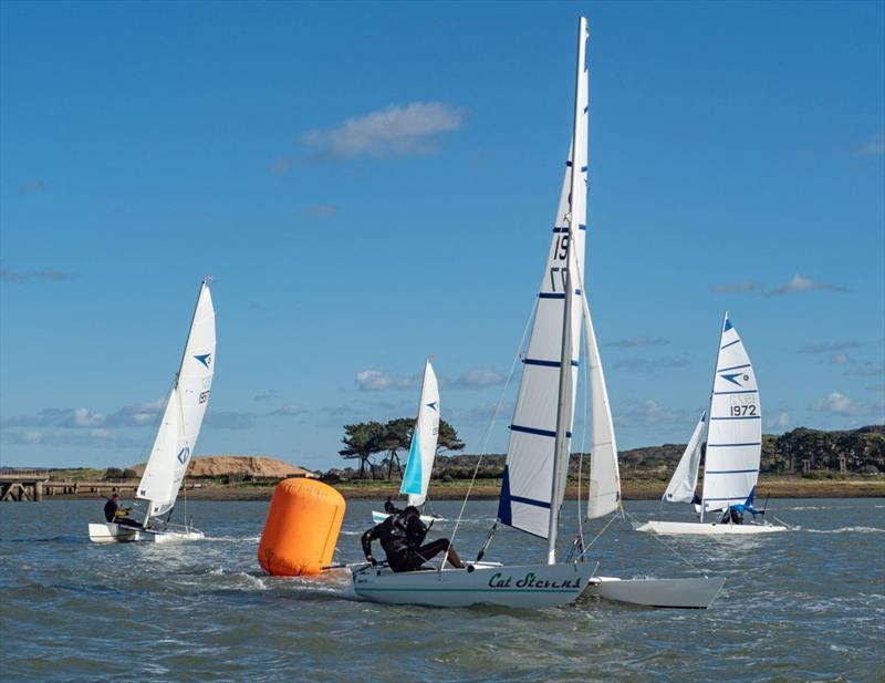
[[[709,414],[709,420],[707,420]],[[707,536],[771,534],[787,527],[721,521],[721,513],[732,505],[752,505],[759,464],[762,457],[762,408],[750,356],[743,341],[726,312],[719,337],[710,408],[700,417],[691,441],[683,454],[662,500],[695,503],[695,488],[700,467],[702,434],[707,432],[707,460],[699,506],[699,521],[649,520],[637,531]],[[714,513],[716,521],[704,521],[705,513]]]

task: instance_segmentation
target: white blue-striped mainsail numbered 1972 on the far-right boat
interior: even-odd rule
[[[754,495],[762,454],[762,410],[750,356],[725,314],[716,360],[702,510],[721,510]]]

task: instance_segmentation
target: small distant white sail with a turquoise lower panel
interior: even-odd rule
[[[412,433],[406,473],[403,475],[400,494],[408,494],[408,504],[424,505],[427,487],[436,458],[436,443],[439,436],[439,385],[434,368],[428,360],[424,366],[421,399],[418,404],[418,420]]]

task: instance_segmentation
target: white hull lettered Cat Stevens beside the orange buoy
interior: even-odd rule
[[[354,571],[356,594],[374,602],[469,607],[497,604],[509,608],[551,608],[581,596],[595,565],[478,566],[442,571],[394,573],[387,568]]]

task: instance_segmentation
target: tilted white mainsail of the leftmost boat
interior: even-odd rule
[[[136,497],[147,500],[146,518],[163,515],[175,506],[209,403],[215,346],[215,309],[209,286],[204,281],[178,376],[138,484]]]

